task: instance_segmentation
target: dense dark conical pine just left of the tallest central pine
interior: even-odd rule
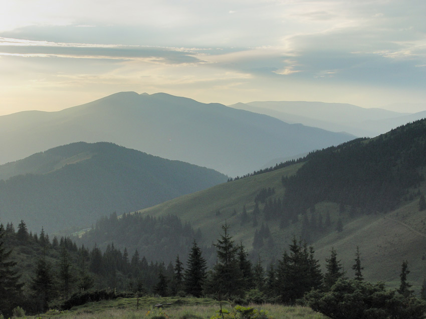
[[[201,256],[201,249],[197,246],[197,243],[194,240],[183,276],[186,293],[191,294],[194,297],[200,297],[202,295],[202,286],[205,280],[206,268],[205,259]]]

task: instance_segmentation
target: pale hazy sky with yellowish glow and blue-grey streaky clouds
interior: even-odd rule
[[[425,0],[3,1],[0,114],[130,90],[426,104],[425,15]]]

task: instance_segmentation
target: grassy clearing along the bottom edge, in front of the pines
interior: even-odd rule
[[[155,304],[163,307],[155,307]],[[167,305],[168,303],[168,305]],[[224,308],[232,308],[228,302],[222,302]],[[277,304],[251,304],[257,309],[268,311],[271,319],[326,319],[327,317],[312,311],[308,307],[284,306]],[[41,314],[42,319],[209,319],[220,309],[220,303],[207,298],[186,297],[141,297],[117,298],[115,300],[89,302],[75,306],[70,310],[49,310]],[[27,318],[38,317],[27,316]]]

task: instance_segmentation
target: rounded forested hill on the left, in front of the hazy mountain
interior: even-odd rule
[[[52,232],[227,180],[213,169],[109,142],[77,142],[0,166],[1,222]]]

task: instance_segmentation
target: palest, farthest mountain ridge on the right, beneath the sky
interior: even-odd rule
[[[359,137],[374,137],[426,116],[426,110],[401,113],[347,103],[310,101],[254,101],[229,106],[274,116],[288,123],[302,123],[336,132],[345,131]]]

